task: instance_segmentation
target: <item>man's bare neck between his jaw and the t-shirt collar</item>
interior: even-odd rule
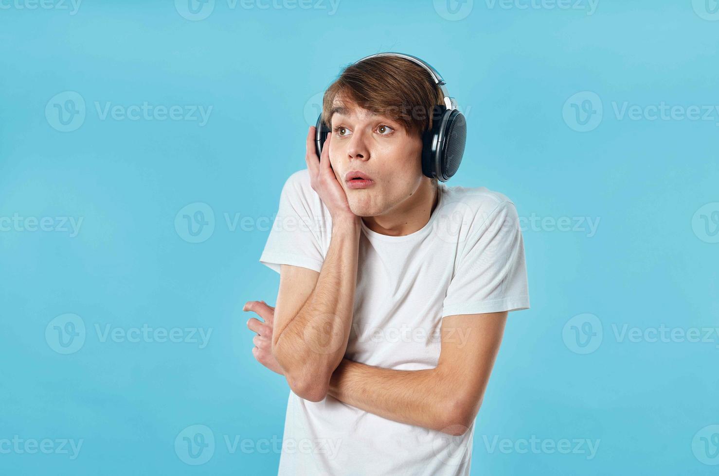
[[[388,236],[411,235],[429,222],[439,201],[438,187],[429,178],[422,181],[417,190],[384,215],[362,217],[367,228]]]

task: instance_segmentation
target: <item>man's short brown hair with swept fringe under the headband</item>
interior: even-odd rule
[[[421,137],[432,126],[432,110],[444,96],[420,65],[396,56],[367,58],[344,67],[322,101],[322,120],[331,126],[335,98],[351,101],[399,122],[409,135]],[[437,179],[431,179],[437,186]]]

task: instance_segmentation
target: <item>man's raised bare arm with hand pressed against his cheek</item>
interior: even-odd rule
[[[317,157],[315,128],[308,129],[305,162],[310,185],[332,218],[329,250],[319,274],[298,266],[280,267],[280,291],[271,353],[298,396],[321,401],[329,378],[347,349],[357,284],[360,218],[331,167],[331,134]]]

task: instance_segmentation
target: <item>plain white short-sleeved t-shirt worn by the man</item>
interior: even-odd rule
[[[285,182],[260,262],[321,271],[331,216],[308,169]],[[388,236],[362,222],[349,360],[395,370],[434,368],[441,319],[528,309],[524,246],[514,204],[485,187],[447,187],[429,222]],[[279,475],[468,475],[475,426],[459,437],[400,423],[332,396],[290,391]]]

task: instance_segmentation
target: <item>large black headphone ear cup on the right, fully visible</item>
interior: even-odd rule
[[[422,173],[446,182],[459,169],[467,141],[467,121],[457,109],[434,106],[432,128],[423,136]]]

